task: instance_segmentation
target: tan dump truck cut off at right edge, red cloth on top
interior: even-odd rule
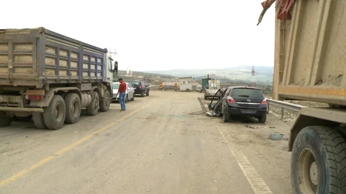
[[[264,12],[275,0],[262,3]],[[316,101],[291,128],[293,193],[346,193],[345,1],[276,1],[273,99]],[[344,77],[345,76],[345,77]]]

